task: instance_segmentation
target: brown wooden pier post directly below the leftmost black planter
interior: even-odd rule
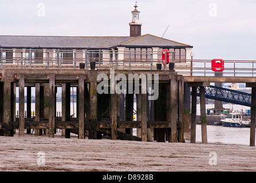
[[[78,81],[78,90],[79,90],[79,108],[78,111],[78,121],[79,121],[79,139],[84,139],[84,74],[79,75]]]

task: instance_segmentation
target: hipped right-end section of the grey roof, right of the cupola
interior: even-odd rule
[[[121,43],[124,46],[190,46],[155,35],[145,34]]]

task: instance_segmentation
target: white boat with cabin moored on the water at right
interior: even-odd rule
[[[229,113],[225,120],[220,120],[223,126],[250,127],[250,120],[243,120],[243,113]]]

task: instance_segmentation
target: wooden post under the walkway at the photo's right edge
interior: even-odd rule
[[[251,88],[250,146],[255,146],[255,123],[256,123],[256,87],[252,87]]]

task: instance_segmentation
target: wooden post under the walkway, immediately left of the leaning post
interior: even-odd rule
[[[196,140],[196,98],[197,87],[192,87],[192,100],[191,100],[191,134],[190,143],[195,143]]]

